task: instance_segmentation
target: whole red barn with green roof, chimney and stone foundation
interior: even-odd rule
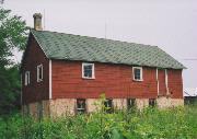
[[[182,63],[157,46],[42,31],[34,14],[22,59],[22,105],[32,115],[94,112],[106,105],[183,105]]]

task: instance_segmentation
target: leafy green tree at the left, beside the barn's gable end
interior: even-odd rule
[[[8,114],[19,106],[20,65],[14,63],[10,57],[13,56],[13,49],[24,50],[27,30],[21,16],[0,8],[0,114]]]

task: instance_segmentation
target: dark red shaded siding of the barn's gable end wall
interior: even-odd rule
[[[22,66],[22,102],[31,103],[48,99],[49,92],[49,61],[33,36],[30,37],[28,46]],[[43,63],[43,80],[37,82],[37,65]],[[30,85],[24,85],[25,71],[31,72]]]

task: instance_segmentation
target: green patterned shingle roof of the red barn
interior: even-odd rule
[[[49,59],[97,61],[184,69],[185,67],[157,46],[31,30]]]

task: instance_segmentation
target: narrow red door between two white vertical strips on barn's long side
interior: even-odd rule
[[[165,70],[158,70],[158,80],[159,80],[159,95],[166,95],[166,86],[165,86]]]

